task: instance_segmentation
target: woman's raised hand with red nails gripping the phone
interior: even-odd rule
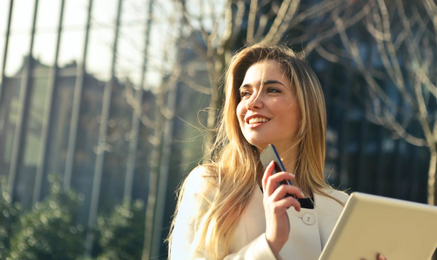
[[[266,214],[266,239],[273,254],[276,256],[285,242],[287,242],[290,234],[287,208],[294,207],[297,211],[300,211],[298,200],[292,196],[284,196],[290,193],[298,198],[303,198],[303,194],[296,186],[285,184],[277,186],[278,182],[293,180],[295,176],[287,172],[279,172],[272,175],[273,169],[274,162],[272,161],[264,172],[262,185],[264,191],[263,204]]]

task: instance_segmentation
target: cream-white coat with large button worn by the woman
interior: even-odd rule
[[[204,169],[194,169],[186,180],[181,205],[176,215],[170,248],[171,260],[210,259],[202,248],[192,248],[198,224],[195,216],[200,200],[212,202],[215,190],[207,187]],[[348,194],[334,190],[325,190],[329,195],[346,203]],[[335,200],[320,194],[314,194],[314,209],[287,209],[290,219],[290,236],[279,251],[282,260],[317,260],[325,246],[329,234],[343,209]],[[204,205],[204,204],[202,204]],[[229,247],[225,260],[274,260],[275,257],[267,243],[266,218],[263,206],[263,194],[258,186],[253,189],[249,204],[243,212]]]

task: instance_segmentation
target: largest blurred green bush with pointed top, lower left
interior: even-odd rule
[[[8,260],[73,260],[83,254],[84,228],[73,219],[81,197],[62,189],[57,175],[49,182],[50,195],[20,216]]]

